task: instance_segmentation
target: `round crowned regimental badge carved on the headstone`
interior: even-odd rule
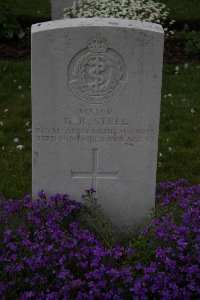
[[[68,69],[68,85],[72,93],[93,104],[119,96],[126,86],[126,77],[123,58],[99,33],[87,41],[87,48],[73,57]]]

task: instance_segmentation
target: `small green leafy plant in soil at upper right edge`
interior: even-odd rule
[[[189,26],[185,25],[184,30],[177,33],[177,37],[181,40],[186,54],[200,54],[200,31],[190,31]]]

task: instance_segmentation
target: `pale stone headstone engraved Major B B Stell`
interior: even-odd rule
[[[33,195],[93,187],[120,232],[155,202],[163,29],[119,19],[32,27]]]

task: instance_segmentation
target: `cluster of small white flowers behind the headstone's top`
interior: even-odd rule
[[[79,0],[64,10],[64,18],[121,18],[165,24],[166,5],[152,0]]]

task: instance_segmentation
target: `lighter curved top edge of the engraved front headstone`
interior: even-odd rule
[[[118,18],[75,18],[62,19],[56,21],[48,21],[43,23],[33,24],[31,32],[36,33],[40,31],[48,31],[53,29],[73,28],[73,27],[122,27],[128,29],[138,29],[143,31],[153,31],[164,34],[164,30],[160,24],[150,23],[139,20],[126,20]]]

